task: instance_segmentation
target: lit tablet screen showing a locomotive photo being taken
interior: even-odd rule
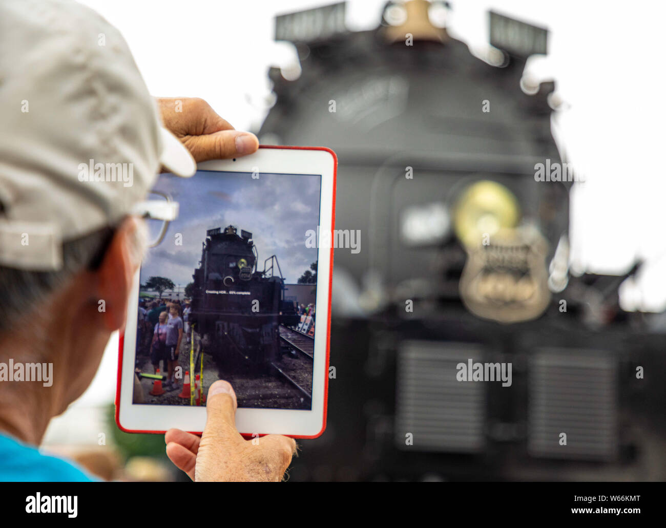
[[[147,220],[135,403],[205,405],[222,379],[238,407],[312,408],[320,193],[316,174],[161,174],[149,199],[178,216]]]

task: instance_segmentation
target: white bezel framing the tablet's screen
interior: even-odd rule
[[[225,172],[256,172],[258,170],[259,173],[321,174],[320,231],[328,230],[330,233],[334,224],[336,165],[336,156],[328,148],[261,146],[256,153],[250,156],[235,160],[202,162],[198,164],[198,170]],[[315,327],[312,409],[308,411],[239,408],[236,412],[236,427],[240,433],[244,435],[276,433],[292,437],[316,437],[324,431],[328,396],[328,332],[332,258],[332,248],[318,248],[316,313],[317,321],[323,321],[326,324],[318,324]],[[132,403],[133,376],[135,376],[134,349],[137,335],[137,318],[133,314],[136,312],[134,307],[138,302],[139,272],[135,276],[129,299],[129,317],[125,328],[125,338],[121,338],[120,344],[116,397],[117,424],[121,429],[129,432],[161,433],[176,427],[184,431],[200,433],[206,422],[206,407]]]

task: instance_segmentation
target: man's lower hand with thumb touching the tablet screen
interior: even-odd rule
[[[228,382],[212,384],[203,434],[169,429],[166,455],[194,481],[279,482],[296,452],[296,442],[281,435],[244,439],[235,425],[237,405]]]

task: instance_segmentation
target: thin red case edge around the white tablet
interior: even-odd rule
[[[331,156],[333,156],[333,204],[332,204],[332,216],[331,216],[331,229],[335,229],[335,197],[336,197],[336,178],[338,176],[338,156],[330,148],[325,146],[282,146],[282,145],[259,145],[259,148],[290,148],[293,150],[326,150]],[[330,356],[330,330],[331,330],[331,320],[330,320],[330,311],[331,311],[331,286],[333,281],[333,244],[331,244],[331,257],[330,257],[330,272],[328,275],[328,321],[326,321],[326,369],[324,370],[324,417],[322,419],[322,429],[315,435],[286,435],[292,438],[316,438],[320,436],[324,429],[326,429],[326,413],[328,410],[328,366],[329,366],[329,356]],[[120,345],[118,351],[118,380],[116,385],[116,412],[115,419],[116,425],[118,425],[121,431],[125,433],[156,433],[164,434],[166,431],[144,431],[139,429],[125,429],[120,423],[120,403],[121,403],[121,374],[123,372],[123,344],[125,343],[125,334],[122,333],[120,337]],[[200,435],[202,431],[188,431],[189,433]],[[268,433],[260,433],[259,435],[265,435]],[[246,433],[246,436],[250,436]]]

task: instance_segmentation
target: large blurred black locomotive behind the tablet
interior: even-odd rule
[[[637,267],[569,272],[563,105],[526,69],[546,29],[490,12],[489,45],[470,53],[438,21],[446,2],[388,1],[358,32],[344,9],[276,19],[298,60],[270,70],[258,131],[336,151],[336,229],[366,240],[336,249],[344,376],[290,480],[663,479],[666,384],[637,378],[664,372],[663,334],[617,292]],[[470,358],[512,364],[513,384],[459,383]]]

